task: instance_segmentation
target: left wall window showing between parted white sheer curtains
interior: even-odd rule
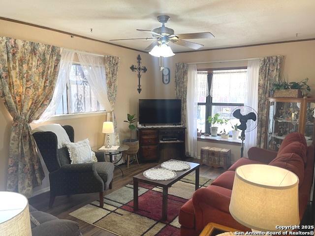
[[[104,111],[104,108],[97,101],[81,65],[72,64],[70,78],[56,115],[96,111]]]

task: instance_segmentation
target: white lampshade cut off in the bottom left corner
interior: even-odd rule
[[[32,236],[29,204],[14,192],[0,192],[0,235]]]

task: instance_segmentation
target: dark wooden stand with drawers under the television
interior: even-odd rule
[[[138,126],[139,159],[163,162],[185,158],[186,128],[179,125]]]

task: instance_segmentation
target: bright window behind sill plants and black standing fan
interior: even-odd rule
[[[247,69],[198,72],[197,128],[199,132],[201,130],[202,133],[210,133],[207,119],[216,113],[220,114],[220,118],[228,119],[227,124],[219,125],[218,133],[224,129],[229,132],[232,130],[231,125],[239,123],[236,118],[230,120],[230,115],[235,108],[244,106],[247,92],[246,73]]]

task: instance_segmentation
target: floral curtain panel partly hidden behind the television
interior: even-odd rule
[[[187,78],[188,64],[176,63],[175,66],[175,97],[182,100],[182,125],[186,125],[187,117]]]

